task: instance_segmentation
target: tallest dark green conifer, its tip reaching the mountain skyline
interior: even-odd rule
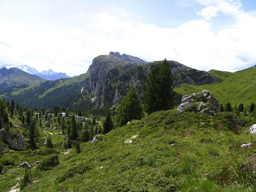
[[[174,106],[172,69],[164,59],[161,67],[157,65],[148,74],[147,84],[143,84],[144,108],[149,114],[168,110]]]

